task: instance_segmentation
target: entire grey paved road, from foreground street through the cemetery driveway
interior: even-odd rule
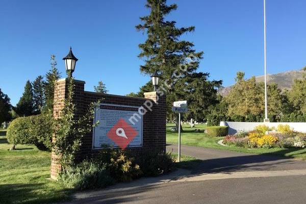
[[[69,203],[306,203],[304,161],[185,145],[182,154],[203,162],[192,171],[78,193]]]

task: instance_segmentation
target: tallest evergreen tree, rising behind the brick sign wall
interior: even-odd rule
[[[193,26],[177,28],[175,21],[165,20],[171,11],[176,10],[176,4],[166,5],[166,0],[147,0],[145,6],[150,9],[150,14],[140,17],[142,23],[136,25],[138,31],[147,34],[146,41],[139,44],[141,52],[138,57],[145,62],[140,66],[140,71],[144,74],[158,71],[161,75],[161,86],[163,82],[167,83],[163,88],[168,94],[169,116],[172,114],[170,107],[173,101],[183,99],[181,97],[185,86],[180,80],[196,71],[203,52],[195,52],[192,42],[181,40],[182,35],[195,30]],[[191,62],[188,59],[191,59]]]

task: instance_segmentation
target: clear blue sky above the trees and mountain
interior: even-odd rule
[[[168,19],[178,26],[195,26],[183,36],[205,53],[199,71],[211,79],[234,83],[236,72],[263,74],[263,1],[176,0]],[[111,94],[138,91],[149,77],[139,72],[138,44],[145,35],[135,30],[139,16],[149,11],[134,1],[15,1],[0,2],[0,88],[15,105],[27,80],[49,70],[49,57],[62,58],[72,46],[79,58],[75,79],[93,90],[103,81]],[[267,0],[267,72],[306,65],[306,1]]]

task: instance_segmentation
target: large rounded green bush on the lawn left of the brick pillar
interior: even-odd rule
[[[40,114],[14,119],[7,130],[11,144],[33,144],[40,150],[51,148],[53,117]]]

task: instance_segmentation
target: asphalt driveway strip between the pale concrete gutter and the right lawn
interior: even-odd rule
[[[177,152],[177,145],[168,145],[167,150]],[[181,153],[205,161],[193,173],[306,169],[305,161],[277,156],[250,155],[187,145],[181,146]]]

